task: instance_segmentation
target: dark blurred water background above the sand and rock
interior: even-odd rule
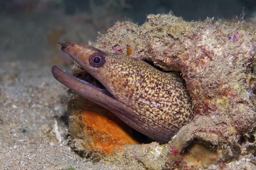
[[[147,14],[172,11],[184,20],[256,16],[254,0],[1,0],[0,61],[70,64],[58,41],[95,41],[114,22],[139,25]],[[64,60],[64,62],[63,62]]]

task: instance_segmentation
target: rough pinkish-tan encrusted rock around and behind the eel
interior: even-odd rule
[[[166,71],[180,71],[186,82],[194,119],[168,144],[149,144],[161,148],[159,155],[165,161],[155,167],[154,157],[151,162],[144,159],[151,153],[141,153],[145,168],[185,170],[213,164],[221,169],[245,157],[250,160],[247,166],[255,166],[255,24],[255,20],[187,22],[173,14],[148,15],[142,26],[117,22],[89,44],[153,62]],[[82,70],[75,65],[73,72],[79,75]],[[136,146],[137,152],[145,147]],[[136,157],[129,154],[128,159],[125,152],[117,154],[122,161]]]

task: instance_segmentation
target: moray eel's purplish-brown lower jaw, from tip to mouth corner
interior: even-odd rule
[[[106,89],[98,88],[90,82],[84,81],[71,74],[68,74],[57,65],[52,66],[52,75],[67,88],[70,88],[71,90],[75,91],[76,93],[89,100],[97,101],[97,99],[95,99],[94,97],[95,94],[97,94],[98,97],[108,96],[113,99],[113,96]]]

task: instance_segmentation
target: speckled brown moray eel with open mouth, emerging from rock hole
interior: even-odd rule
[[[192,119],[189,95],[177,75],[124,54],[107,53],[75,42],[59,44],[105,88],[67,74],[56,65],[52,67],[55,79],[108,109],[140,133],[167,143]]]

